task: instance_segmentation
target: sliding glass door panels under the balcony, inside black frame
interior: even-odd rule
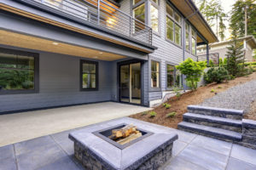
[[[141,63],[120,65],[119,68],[120,101],[141,104]]]

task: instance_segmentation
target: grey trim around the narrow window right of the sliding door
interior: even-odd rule
[[[152,88],[151,86],[151,61],[159,62],[159,88]],[[148,92],[160,92],[161,91],[161,59],[150,57],[148,60]]]

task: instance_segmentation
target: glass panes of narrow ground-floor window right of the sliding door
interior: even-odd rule
[[[151,60],[151,88],[160,88],[160,63]]]

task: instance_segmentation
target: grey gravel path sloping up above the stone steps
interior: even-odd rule
[[[246,82],[206,99],[201,105],[228,109],[250,110],[256,99],[256,80]]]

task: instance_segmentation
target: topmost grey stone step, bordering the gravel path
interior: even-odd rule
[[[201,105],[188,105],[188,112],[207,115],[207,116],[224,117],[224,118],[240,120],[240,121],[243,116],[242,110],[207,107],[207,106],[201,106]]]

